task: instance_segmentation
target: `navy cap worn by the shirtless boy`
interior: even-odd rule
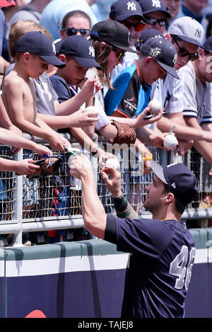
[[[64,62],[56,57],[55,45],[52,40],[40,31],[30,31],[21,36],[16,45],[16,52],[29,52],[38,55],[58,68],[66,66]]]

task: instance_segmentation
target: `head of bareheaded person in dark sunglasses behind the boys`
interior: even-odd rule
[[[87,13],[84,11],[69,11],[63,18],[59,33],[62,40],[71,35],[83,35],[83,37],[88,38],[90,28],[91,21]]]

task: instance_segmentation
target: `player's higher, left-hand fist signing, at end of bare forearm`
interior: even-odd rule
[[[80,156],[75,156],[71,159],[71,167],[69,173],[75,178],[89,178],[93,175],[93,168],[90,160],[81,154]]]

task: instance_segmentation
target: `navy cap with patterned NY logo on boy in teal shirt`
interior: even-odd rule
[[[175,79],[179,79],[177,72],[174,69],[177,60],[177,53],[175,47],[165,38],[149,38],[144,42],[140,48],[140,52],[155,59],[163,69]]]

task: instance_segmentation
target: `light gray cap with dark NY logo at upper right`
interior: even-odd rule
[[[167,31],[170,35],[177,35],[180,39],[201,47],[204,39],[203,26],[190,16],[177,18]]]

